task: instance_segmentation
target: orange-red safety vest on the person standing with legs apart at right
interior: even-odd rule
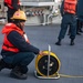
[[[64,0],[64,12],[75,14],[77,0]]]

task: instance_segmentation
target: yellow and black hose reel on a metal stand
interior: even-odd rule
[[[59,79],[60,60],[51,51],[43,51],[43,53],[46,53],[46,55],[35,58],[35,76],[40,79]]]

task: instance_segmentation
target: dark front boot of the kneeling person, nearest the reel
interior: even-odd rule
[[[10,73],[10,76],[14,77],[14,79],[25,80],[28,77],[28,74],[27,73],[22,73],[20,71],[20,68],[15,66],[14,69],[12,69],[11,73]]]

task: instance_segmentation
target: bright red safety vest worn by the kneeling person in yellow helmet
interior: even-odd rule
[[[13,25],[15,27],[14,29],[12,29]],[[17,32],[19,32],[28,43],[30,43],[30,42],[29,42],[29,39],[27,38],[25,33],[24,33],[20,28],[18,28],[15,24],[11,23],[10,28],[11,28],[11,30],[10,30],[8,33],[6,33],[6,35],[4,35],[2,49],[6,50],[6,51],[10,51],[10,52],[15,52],[15,53],[17,53],[17,52],[19,52],[20,50],[17,49],[17,48],[8,40],[8,38],[7,38],[7,35],[8,35],[11,31],[17,31]]]

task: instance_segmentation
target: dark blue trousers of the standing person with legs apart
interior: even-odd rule
[[[62,18],[61,30],[59,33],[59,39],[63,39],[68,27],[70,25],[71,34],[70,39],[75,39],[76,35],[76,18],[74,14],[65,13]]]

